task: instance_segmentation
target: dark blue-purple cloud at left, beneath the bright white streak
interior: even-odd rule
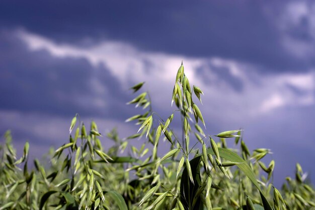
[[[3,32],[0,39],[0,109],[125,117],[121,106],[128,97],[104,65],[95,67],[83,58],[54,57],[45,50],[30,52],[9,33]]]

